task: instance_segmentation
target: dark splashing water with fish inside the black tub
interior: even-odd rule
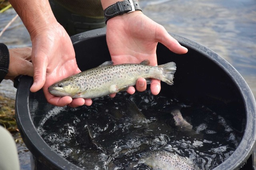
[[[90,107],[55,107],[38,130],[83,169],[208,170],[226,160],[242,137],[224,115],[150,91],[122,92],[112,100],[96,98]]]

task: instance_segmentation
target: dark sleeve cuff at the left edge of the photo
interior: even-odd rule
[[[9,50],[5,44],[0,43],[0,82],[4,80],[4,77],[8,73],[9,68]]]

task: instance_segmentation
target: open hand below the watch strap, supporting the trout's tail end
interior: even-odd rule
[[[188,51],[171,37],[162,25],[152,21],[140,11],[115,16],[108,20],[106,41],[114,64],[140,63],[148,59],[150,65],[156,66],[158,42],[174,53],[184,54]],[[137,80],[136,89],[140,92],[146,90],[144,78]],[[159,94],[160,80],[152,80],[150,89],[152,94]],[[127,92],[133,94],[134,87],[130,87]],[[114,96],[115,94],[111,95]]]

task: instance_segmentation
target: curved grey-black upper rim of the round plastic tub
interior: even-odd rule
[[[244,133],[237,149],[230,155],[230,157],[227,158],[222,164],[215,167],[213,170],[235,170],[242,168],[250,155],[253,153],[253,148],[256,140],[256,102],[252,91],[250,90],[248,84],[240,75],[240,73],[225,59],[214,53],[214,51],[180,35],[176,35],[174,33],[170,33],[170,35],[172,35],[172,37],[174,37],[181,45],[185,45],[186,47],[189,47],[194,51],[203,54],[208,59],[217,64],[230,76],[232,81],[240,90],[241,96],[245,104],[244,107],[246,109],[246,127],[244,129],[244,132],[246,133]],[[80,41],[85,41],[91,38],[102,36],[106,36],[106,28],[94,29],[91,31],[86,31],[84,33],[79,33],[71,36],[70,39],[73,45],[76,45],[76,43],[79,43]],[[18,88],[16,92],[16,120],[24,143],[33,154],[33,156],[39,158],[39,161],[42,163],[48,164],[48,162],[50,162],[53,165],[53,169],[59,168],[62,170],[82,170],[82,168],[72,164],[71,162],[57,154],[54,150],[52,150],[36,131],[36,127],[34,126],[30,116],[30,107],[28,102],[30,96],[30,88],[28,87],[30,87],[32,83],[32,77],[22,76],[20,78],[20,82],[18,83]],[[24,112],[28,114],[22,114]],[[38,146],[40,146],[40,148]]]

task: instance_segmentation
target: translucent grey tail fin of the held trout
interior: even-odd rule
[[[158,67],[163,68],[162,81],[167,84],[173,84],[174,73],[176,71],[176,64],[174,62],[159,65]]]

